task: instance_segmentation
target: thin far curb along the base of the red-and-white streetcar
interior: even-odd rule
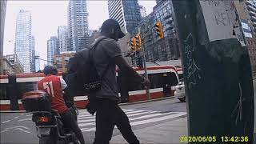
[[[128,105],[134,105],[134,104],[140,104],[140,103],[146,103],[146,102],[162,101],[162,100],[171,99],[171,98],[174,98],[174,96],[165,97],[165,98],[155,98],[155,99],[150,99],[146,101],[119,103],[118,105],[128,106]],[[79,110],[82,110],[82,109],[79,109]],[[0,113],[26,113],[26,110],[0,110]]]

